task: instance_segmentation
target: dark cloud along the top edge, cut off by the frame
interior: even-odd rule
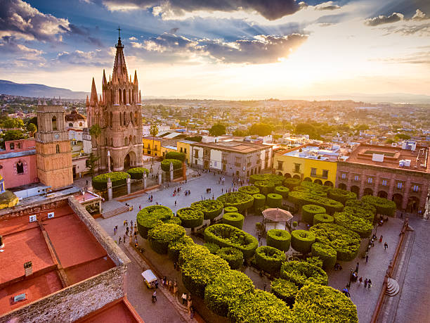
[[[152,8],[153,15],[169,13],[184,15],[193,11],[256,11],[268,20],[291,15],[301,8],[295,0],[104,0],[110,11],[128,11],[138,8]]]

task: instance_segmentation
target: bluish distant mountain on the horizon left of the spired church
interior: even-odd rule
[[[52,98],[60,96],[62,99],[85,99],[89,93],[76,92],[60,87],[47,87],[44,84],[20,84],[10,81],[0,80],[0,94],[16,96],[45,97]]]

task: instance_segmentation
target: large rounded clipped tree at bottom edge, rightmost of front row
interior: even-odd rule
[[[297,293],[293,312],[296,322],[358,323],[356,305],[329,286],[304,286]]]

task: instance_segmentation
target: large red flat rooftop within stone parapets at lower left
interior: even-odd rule
[[[69,205],[34,214],[36,222],[29,215],[0,220],[0,315],[115,267]],[[29,261],[32,274],[26,277]],[[26,299],[13,303],[21,293]]]

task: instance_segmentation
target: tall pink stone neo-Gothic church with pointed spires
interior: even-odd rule
[[[86,115],[91,129],[92,151],[98,157],[96,171],[128,170],[142,165],[142,104],[136,70],[133,81],[127,73],[121,37],[115,46],[112,77],[103,80],[100,97],[96,83],[86,98]]]

